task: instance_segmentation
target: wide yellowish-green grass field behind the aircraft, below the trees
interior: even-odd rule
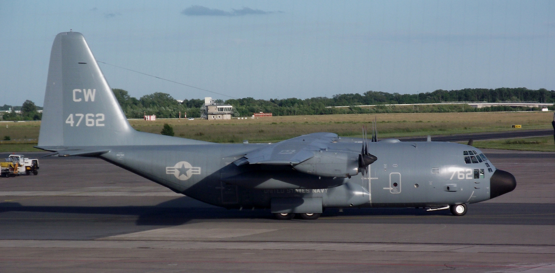
[[[160,133],[164,123],[169,123],[177,137],[240,143],[243,140],[277,142],[314,132],[333,132],[340,136],[360,137],[362,126],[371,126],[375,117],[378,121],[379,137],[389,138],[552,128],[553,112],[384,113],[276,116],[219,121],[174,118],[157,121],[129,120],[129,123],[136,130],[150,133]],[[522,128],[511,128],[514,124],[522,125]],[[0,142],[0,151],[36,151],[32,146],[36,145],[40,125],[39,121],[0,122],[0,140],[4,136],[9,136],[12,140]],[[23,140],[31,140],[32,143],[13,143]],[[528,147],[527,145],[522,144],[522,147]],[[508,146],[511,145],[500,145],[499,148],[509,148]]]

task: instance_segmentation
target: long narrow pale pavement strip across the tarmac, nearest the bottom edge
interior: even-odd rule
[[[237,249],[237,250],[329,250],[329,251],[418,251],[471,253],[555,254],[555,246],[365,244],[311,242],[199,242],[119,240],[0,240],[0,247],[79,249]],[[551,268],[552,269],[552,268]],[[526,271],[543,272],[543,271]]]

